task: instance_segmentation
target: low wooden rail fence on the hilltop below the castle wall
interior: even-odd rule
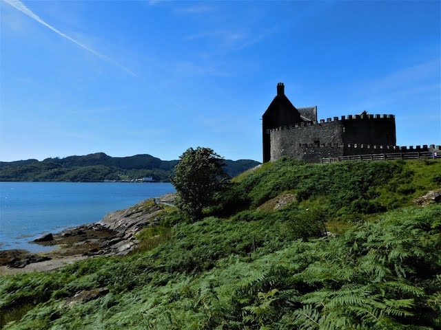
[[[344,162],[346,160],[394,160],[394,159],[441,159],[441,153],[422,151],[413,153],[371,153],[369,155],[351,155],[322,158],[322,164]]]

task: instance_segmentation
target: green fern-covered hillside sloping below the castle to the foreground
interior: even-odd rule
[[[164,207],[130,256],[2,276],[0,322],[440,329],[441,204],[412,201],[440,188],[440,173],[439,160],[264,164],[236,177],[201,221]]]

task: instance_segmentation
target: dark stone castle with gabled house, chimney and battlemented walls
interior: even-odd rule
[[[431,146],[396,146],[394,115],[342,115],[317,120],[317,107],[296,108],[283,83],[263,113],[263,162],[290,156],[307,162],[348,155],[436,151]]]

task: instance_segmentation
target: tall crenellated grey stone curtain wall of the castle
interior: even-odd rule
[[[301,122],[269,129],[270,159],[284,155],[307,162],[320,162],[324,157],[354,155],[363,152],[360,142],[369,145],[369,152],[379,149],[370,146],[396,144],[393,115],[343,115],[340,119]],[[355,145],[355,150],[353,150]],[[353,153],[356,152],[356,153]],[[380,153],[380,151],[378,151]]]

